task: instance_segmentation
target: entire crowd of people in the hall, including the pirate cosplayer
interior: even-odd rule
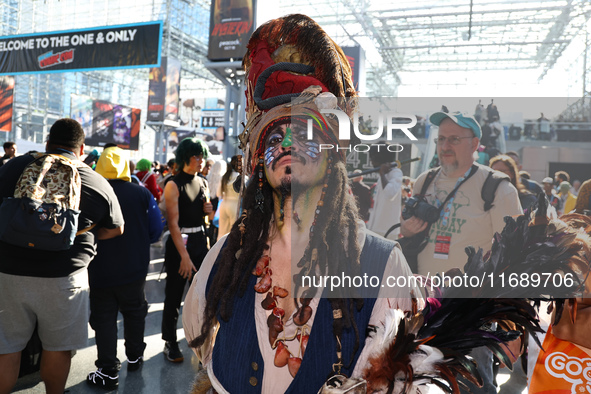
[[[46,153],[0,167],[0,393],[14,386],[36,327],[46,391],[63,393],[72,351],[87,345],[88,322],[97,369],[87,382],[116,388],[118,311],[127,370],[142,367],[150,243],[165,225],[163,354],[184,360],[177,326],[189,284],[182,324],[201,363],[194,393],[402,393],[425,385],[496,393],[495,359],[511,366],[526,338],[543,333],[529,299],[497,301],[477,289],[444,297],[449,289],[427,293],[410,280],[335,286],[334,279],[484,274],[508,253],[536,266],[546,259],[531,255],[543,246],[561,257],[553,274],[574,261],[585,285],[591,221],[576,213],[589,210],[591,183],[575,190],[578,197],[563,171],[539,185],[520,172],[515,152],[480,164],[482,119],[446,109],[429,119],[439,128],[438,165],[413,181],[387,150],[372,151],[379,179],[371,190],[359,177],[349,181],[342,151],[319,149],[339,143],[340,119],[321,109],[352,116],[357,93],[344,53],[314,21],[290,15],[263,24],[244,67],[244,156],[227,168],[196,138],[181,141],[166,166],[142,159],[132,169],[116,146],[87,165],[84,131],[72,119],[51,127]],[[494,123],[498,110],[489,107]],[[60,241],[47,245],[37,228]],[[538,243],[515,241],[515,228]],[[568,237],[558,242],[559,230]],[[519,250],[509,248],[515,244]],[[544,343],[574,345],[569,354],[581,359],[591,354],[586,286],[584,296],[561,293],[570,301],[546,298],[560,313]],[[506,289],[503,298],[511,294]],[[538,362],[547,356],[542,350]],[[543,368],[530,382],[567,384]],[[588,386],[573,389],[581,387]]]

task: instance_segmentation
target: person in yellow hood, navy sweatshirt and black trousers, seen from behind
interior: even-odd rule
[[[148,302],[144,287],[150,264],[150,243],[158,241],[163,223],[156,200],[145,187],[131,182],[123,151],[109,147],[101,154],[96,172],[113,190],[126,223],[125,233],[99,241],[97,255],[88,268],[90,325],[96,332],[96,371],[88,374],[90,385],[117,387],[121,362],[117,358],[117,313],[123,315],[128,371],[143,363],[145,319]]]

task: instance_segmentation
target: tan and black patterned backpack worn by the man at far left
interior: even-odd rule
[[[38,153],[21,174],[14,197],[0,205],[0,240],[47,251],[67,250],[76,235],[80,215],[84,164],[58,154]]]

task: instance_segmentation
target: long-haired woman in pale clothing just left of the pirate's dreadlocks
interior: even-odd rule
[[[232,156],[226,173],[222,177],[217,195],[222,200],[219,205],[220,224],[218,240],[228,234],[232,225],[238,218],[238,204],[240,195],[234,190],[234,181],[238,178],[240,169],[240,156]]]

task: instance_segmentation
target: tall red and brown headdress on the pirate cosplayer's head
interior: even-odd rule
[[[247,123],[239,139],[249,172],[255,168],[256,154],[267,127],[277,120],[275,112],[284,112],[278,107],[293,111],[296,104],[292,105],[291,100],[306,92],[309,97],[300,103],[308,107],[318,107],[314,98],[330,96],[339,98],[334,100],[334,107],[338,105],[347,114],[353,109],[353,102],[348,98],[357,93],[345,54],[305,15],[288,15],[260,26],[248,42],[243,66]],[[338,128],[331,130],[338,141],[334,135]]]

